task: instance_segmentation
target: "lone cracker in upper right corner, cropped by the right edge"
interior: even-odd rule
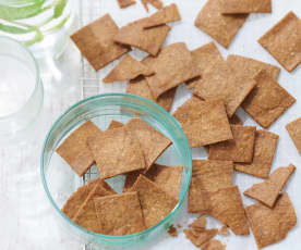
[[[289,12],[258,42],[288,72],[292,72],[301,63],[301,20]]]

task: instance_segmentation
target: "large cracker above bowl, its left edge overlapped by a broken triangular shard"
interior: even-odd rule
[[[144,63],[156,73],[146,77],[156,99],[167,90],[200,75],[191,52],[183,42],[165,47],[157,58],[149,57]]]

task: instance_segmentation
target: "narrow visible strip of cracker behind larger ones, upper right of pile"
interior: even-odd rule
[[[237,54],[228,55],[227,62],[236,73],[250,79],[253,79],[261,71],[265,71],[267,75],[277,79],[281,71],[278,66]]]

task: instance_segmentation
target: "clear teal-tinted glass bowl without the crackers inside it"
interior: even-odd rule
[[[170,214],[157,225],[139,234],[129,236],[106,236],[86,230],[69,220],[61,208],[75,191],[88,179],[97,177],[96,167],[80,178],[68,164],[56,153],[57,147],[81,124],[92,120],[101,129],[106,129],[111,120],[125,123],[133,116],[139,116],[172,140],[172,146],[158,159],[166,165],[183,165],[183,177],[180,187],[179,203]],[[188,195],[192,158],[191,150],[179,123],[164,109],[154,102],[131,95],[107,93],[85,99],[70,108],[53,124],[47,135],[41,153],[41,179],[47,197],[56,210],[58,222],[69,234],[92,249],[136,249],[147,243],[154,243],[165,235],[183,209]],[[124,176],[107,180],[117,191],[123,187]]]

